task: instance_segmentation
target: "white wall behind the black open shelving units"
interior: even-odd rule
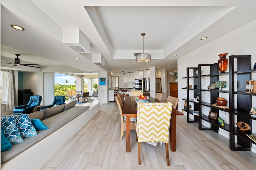
[[[221,29],[221,27],[220,27]],[[230,55],[252,55],[252,68],[256,62],[256,21],[253,21],[233,32],[220,37],[219,39],[206,44],[178,59],[178,98],[186,98],[186,90],[181,89],[186,86],[186,67],[198,67],[198,64],[217,63],[221,53]],[[217,30],[216,30],[217,31]],[[207,35],[206,35],[207,36]],[[210,37],[208,37],[210,38]],[[207,41],[204,40],[204,41]],[[228,58],[228,57],[227,57]],[[256,74],[252,74],[252,80],[256,80]],[[182,100],[181,100],[182,101]],[[256,96],[252,96],[252,106],[256,107]],[[184,102],[178,103],[178,108],[184,108]],[[250,108],[248,108],[250,109]],[[185,112],[184,112],[185,113]],[[228,114],[223,113],[223,118],[228,120]],[[252,120],[252,133],[256,133],[256,121]],[[254,145],[255,148],[255,145]]]

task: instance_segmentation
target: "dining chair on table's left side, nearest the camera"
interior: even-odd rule
[[[122,116],[123,105],[122,105],[121,98],[119,96],[116,97],[116,103],[118,105],[120,116],[121,116],[121,136],[120,136],[120,140],[122,140],[124,131],[126,130],[126,127],[125,127],[125,119],[124,119],[125,117]],[[136,126],[135,126],[136,119],[137,119],[136,117],[131,118],[131,122],[130,122],[130,129],[131,130],[136,130]]]

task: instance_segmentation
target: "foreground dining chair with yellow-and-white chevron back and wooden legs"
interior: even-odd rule
[[[137,106],[136,134],[138,139],[138,164],[140,165],[140,143],[165,143],[167,165],[169,160],[169,129],[172,103],[141,103]]]

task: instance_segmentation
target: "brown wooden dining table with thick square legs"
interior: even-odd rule
[[[122,109],[122,116],[126,116],[126,152],[130,152],[130,118],[137,117],[137,103],[134,96],[126,96],[124,98],[124,106]],[[160,102],[159,100],[149,97],[148,102]],[[172,152],[176,151],[176,116],[184,115],[182,112],[172,108],[170,130],[169,130],[169,143]]]

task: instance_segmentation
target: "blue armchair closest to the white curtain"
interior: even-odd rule
[[[33,108],[39,106],[42,101],[42,96],[30,96],[28,104],[15,106],[13,114],[29,114],[33,112]]]

